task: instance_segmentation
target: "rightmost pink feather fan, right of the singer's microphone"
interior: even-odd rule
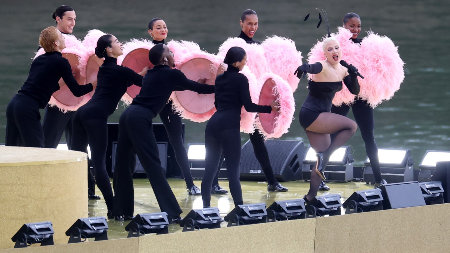
[[[405,79],[403,66],[405,62],[400,58],[398,48],[386,36],[379,36],[372,31],[368,32],[361,42],[363,68],[358,68],[365,79],[360,81],[360,94],[358,97],[367,100],[375,108],[384,100],[392,98],[400,89]]]

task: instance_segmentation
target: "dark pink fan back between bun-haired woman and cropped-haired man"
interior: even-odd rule
[[[141,72],[144,67],[153,68],[153,64],[148,59],[148,51],[149,50],[145,48],[137,48],[130,51],[123,59],[122,66],[131,68],[137,73]],[[132,85],[126,89],[126,94],[134,99],[135,96],[139,94],[139,91],[139,86]]]

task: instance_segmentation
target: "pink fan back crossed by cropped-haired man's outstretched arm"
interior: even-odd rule
[[[206,78],[206,84],[214,85],[216,73],[211,72],[212,62],[204,58],[190,59],[180,67],[180,71],[193,81]],[[214,94],[198,94],[195,91],[175,91],[176,99],[190,113],[207,113],[214,108]]]

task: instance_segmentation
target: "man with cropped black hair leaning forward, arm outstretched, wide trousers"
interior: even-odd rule
[[[174,67],[173,54],[169,47],[158,44],[148,53],[155,67],[149,69],[142,80],[142,88],[133,103],[120,116],[117,139],[116,163],[114,166],[114,215],[124,220],[133,218],[134,190],[133,169],[130,159],[138,155],[139,161],[152,185],[157,203],[169,220],[179,222],[181,208],[161,167],[158,147],[153,133],[153,118],[161,113],[174,90],[193,90],[198,93],[213,93],[214,86],[200,84],[187,79]],[[199,80],[200,81],[200,80]],[[206,81],[206,80],[202,80]]]

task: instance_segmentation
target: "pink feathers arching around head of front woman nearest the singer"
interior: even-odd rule
[[[264,48],[256,43],[247,44],[241,38],[228,38],[228,40],[220,45],[219,53],[217,55],[225,57],[228,50],[234,46],[241,47],[245,50],[247,53],[247,66],[250,68],[252,73],[255,74],[257,79],[259,79],[264,73],[270,71],[266,56],[264,55]]]

